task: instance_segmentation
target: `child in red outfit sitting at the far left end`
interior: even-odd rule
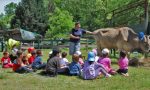
[[[10,61],[10,58],[9,58],[9,53],[7,51],[5,51],[3,53],[3,57],[1,59],[1,62],[2,62],[2,67],[3,68],[12,68],[13,64],[11,63]]]

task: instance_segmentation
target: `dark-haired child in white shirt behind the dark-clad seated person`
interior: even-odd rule
[[[60,60],[60,67],[68,67],[69,61],[67,60],[66,56],[67,53],[66,52],[62,52],[62,59]]]

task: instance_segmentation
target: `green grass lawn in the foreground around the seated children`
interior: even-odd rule
[[[49,51],[43,50],[44,61],[47,60]],[[82,52],[86,56],[86,51],[82,50]],[[70,58],[68,55],[68,59]],[[116,62],[115,58],[113,62]],[[112,67],[118,68],[116,64]],[[129,67],[129,77],[115,75],[96,80],[82,80],[77,76],[64,75],[51,78],[41,76],[39,72],[17,74],[11,69],[0,68],[0,90],[150,90],[150,68],[144,67]]]

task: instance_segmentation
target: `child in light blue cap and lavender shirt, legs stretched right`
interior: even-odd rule
[[[87,80],[95,79],[101,73],[104,74],[106,77],[111,77],[111,75],[107,73],[107,71],[101,64],[95,62],[95,54],[93,52],[89,52],[88,58],[85,61],[83,67],[83,78]]]

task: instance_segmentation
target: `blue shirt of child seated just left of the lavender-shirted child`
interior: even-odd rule
[[[72,62],[69,66],[70,75],[80,75],[81,66],[77,62]]]

